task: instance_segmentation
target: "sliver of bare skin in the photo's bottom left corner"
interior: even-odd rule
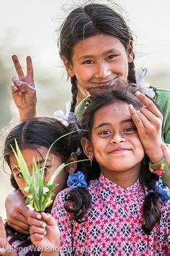
[[[0,217],[0,255],[16,256],[17,252],[14,251],[12,246],[6,239],[6,231],[4,228],[4,223]]]

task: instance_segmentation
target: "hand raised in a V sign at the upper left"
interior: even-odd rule
[[[12,96],[19,109],[20,120],[24,121],[36,116],[37,96],[33,75],[32,59],[27,56],[27,75],[24,76],[22,67],[16,55],[12,56],[18,77],[12,77]]]

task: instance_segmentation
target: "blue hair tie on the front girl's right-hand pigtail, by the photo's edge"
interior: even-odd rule
[[[149,193],[157,193],[162,203],[167,203],[169,200],[169,188],[163,185],[161,178],[156,182],[155,189],[149,190]]]

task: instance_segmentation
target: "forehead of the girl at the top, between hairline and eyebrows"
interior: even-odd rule
[[[91,55],[91,53],[110,51],[112,49],[125,51],[125,47],[118,38],[114,35],[101,33],[99,35],[92,35],[89,38],[85,38],[84,40],[80,40],[76,43],[73,47],[73,55]]]

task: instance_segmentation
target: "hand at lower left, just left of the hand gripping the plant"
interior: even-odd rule
[[[7,223],[16,231],[22,234],[30,234],[30,225],[27,218],[30,210],[24,204],[24,197],[21,192],[14,190],[6,197]]]

